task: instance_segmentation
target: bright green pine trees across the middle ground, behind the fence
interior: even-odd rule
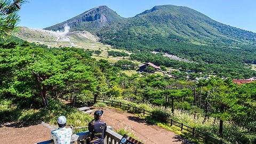
[[[207,123],[211,117],[215,123],[224,123],[221,132],[219,128],[214,131],[224,140],[252,143],[256,138],[255,83],[236,85],[229,78],[194,81],[148,73],[127,76],[122,65],[133,69],[133,63],[118,61],[113,65],[95,60],[83,49],[50,49],[26,41],[2,43],[0,47],[1,99],[24,101],[22,107],[49,108],[49,101],[58,99],[68,99],[73,106],[105,98],[167,108],[173,101],[174,109],[193,114],[195,119],[203,116]],[[6,111],[1,111],[1,117],[5,115]],[[230,133],[227,124],[237,129]]]

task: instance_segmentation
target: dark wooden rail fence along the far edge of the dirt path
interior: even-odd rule
[[[141,109],[141,108],[138,108],[138,107],[135,107],[135,106],[131,106],[129,104],[126,104],[126,103],[123,103],[123,102],[118,102],[118,101],[114,101],[114,100],[108,100],[108,99],[97,99],[99,100],[98,102],[104,102],[104,103],[108,103],[110,104],[111,106],[115,106],[115,107],[119,107],[119,108],[123,108],[125,110],[128,110],[128,109],[131,109],[132,108],[132,111],[133,113],[141,113],[143,115],[149,115],[149,116],[152,116],[154,117],[154,113],[152,111],[148,111],[146,109]],[[165,122],[167,123],[170,123],[171,126],[174,125],[174,126],[178,126],[180,127],[180,130],[181,131],[188,131],[189,133],[191,133],[193,136],[195,137],[201,137],[204,139],[205,143],[214,143],[214,144],[228,144],[226,142],[223,142],[221,139],[218,139],[218,138],[214,138],[212,137],[211,135],[207,134],[207,133],[204,133],[204,132],[201,132],[201,131],[198,131],[196,130],[194,127],[190,127],[190,126],[187,126],[183,123],[180,123],[180,122],[177,122],[175,121],[174,119],[172,118],[167,118],[165,120]]]

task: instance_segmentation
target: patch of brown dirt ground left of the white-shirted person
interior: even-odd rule
[[[40,123],[4,123],[0,125],[0,143],[36,143],[51,139],[50,133]]]

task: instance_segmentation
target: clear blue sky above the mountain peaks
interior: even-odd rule
[[[226,25],[256,33],[255,0],[28,0],[19,12],[19,26],[49,27],[99,5],[127,18],[165,4],[187,6]]]

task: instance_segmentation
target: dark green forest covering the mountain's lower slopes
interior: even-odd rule
[[[186,42],[172,41],[161,35],[135,35],[127,33],[127,31],[105,35],[105,39],[102,40],[103,43],[134,52],[135,54],[130,55],[132,60],[152,62],[158,66],[163,65],[223,77],[249,78],[256,75],[256,71],[245,68],[245,63],[255,63],[255,46],[242,45],[242,48],[239,49],[231,49],[223,45],[198,46]],[[113,39],[112,37],[116,38]],[[171,60],[161,54],[153,54],[151,51],[178,55],[194,62]]]

